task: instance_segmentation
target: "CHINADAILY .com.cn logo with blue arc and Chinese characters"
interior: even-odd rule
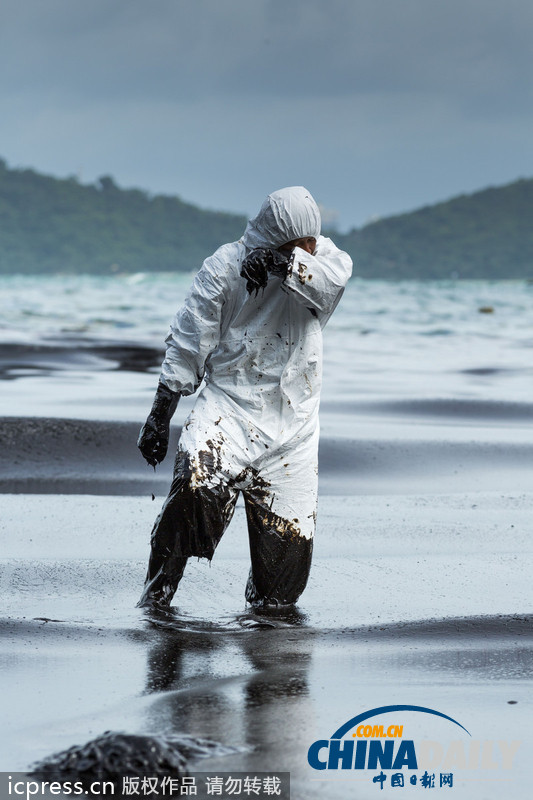
[[[426,738],[428,726],[434,738]],[[317,739],[307,760],[321,773],[317,780],[333,780],[342,770],[344,778],[351,771],[379,789],[453,789],[472,771],[511,770],[520,745],[475,738],[462,722],[433,708],[394,705],[357,714],[328,739]]]

